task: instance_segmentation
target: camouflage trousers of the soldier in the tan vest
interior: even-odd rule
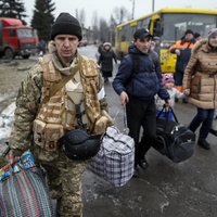
[[[39,162],[46,169],[51,199],[58,200],[60,217],[82,217],[81,176],[87,163],[72,161],[64,154],[52,162]]]

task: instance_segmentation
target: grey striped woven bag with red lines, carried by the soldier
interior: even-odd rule
[[[26,168],[26,166],[25,162],[25,168],[17,170],[15,167],[16,171],[8,173],[10,175],[0,182],[0,216],[55,216],[42,170],[38,167]]]

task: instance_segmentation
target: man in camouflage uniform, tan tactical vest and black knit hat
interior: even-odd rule
[[[58,215],[80,217],[81,175],[87,161],[67,158],[59,139],[77,128],[76,104],[80,104],[81,119],[90,133],[103,133],[112,119],[97,63],[77,51],[79,22],[61,13],[51,39],[50,53],[39,59],[20,88],[8,161],[14,163],[30,149],[36,164],[46,169],[51,197],[58,200]]]

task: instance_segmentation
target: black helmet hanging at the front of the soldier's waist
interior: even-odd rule
[[[88,135],[82,129],[75,129],[62,137],[60,143],[68,158],[89,159],[99,152],[101,138],[102,135]]]

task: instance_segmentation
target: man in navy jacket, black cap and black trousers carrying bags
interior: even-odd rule
[[[169,94],[163,87],[159,60],[156,52],[151,51],[152,36],[148,29],[141,28],[133,35],[133,46],[129,48],[113,81],[113,88],[120,95],[122,104],[126,104],[129,136],[135,139],[135,177],[138,166],[148,166],[145,153],[156,138],[156,108],[154,95],[157,93],[166,104]],[[140,128],[143,137],[140,141]]]

